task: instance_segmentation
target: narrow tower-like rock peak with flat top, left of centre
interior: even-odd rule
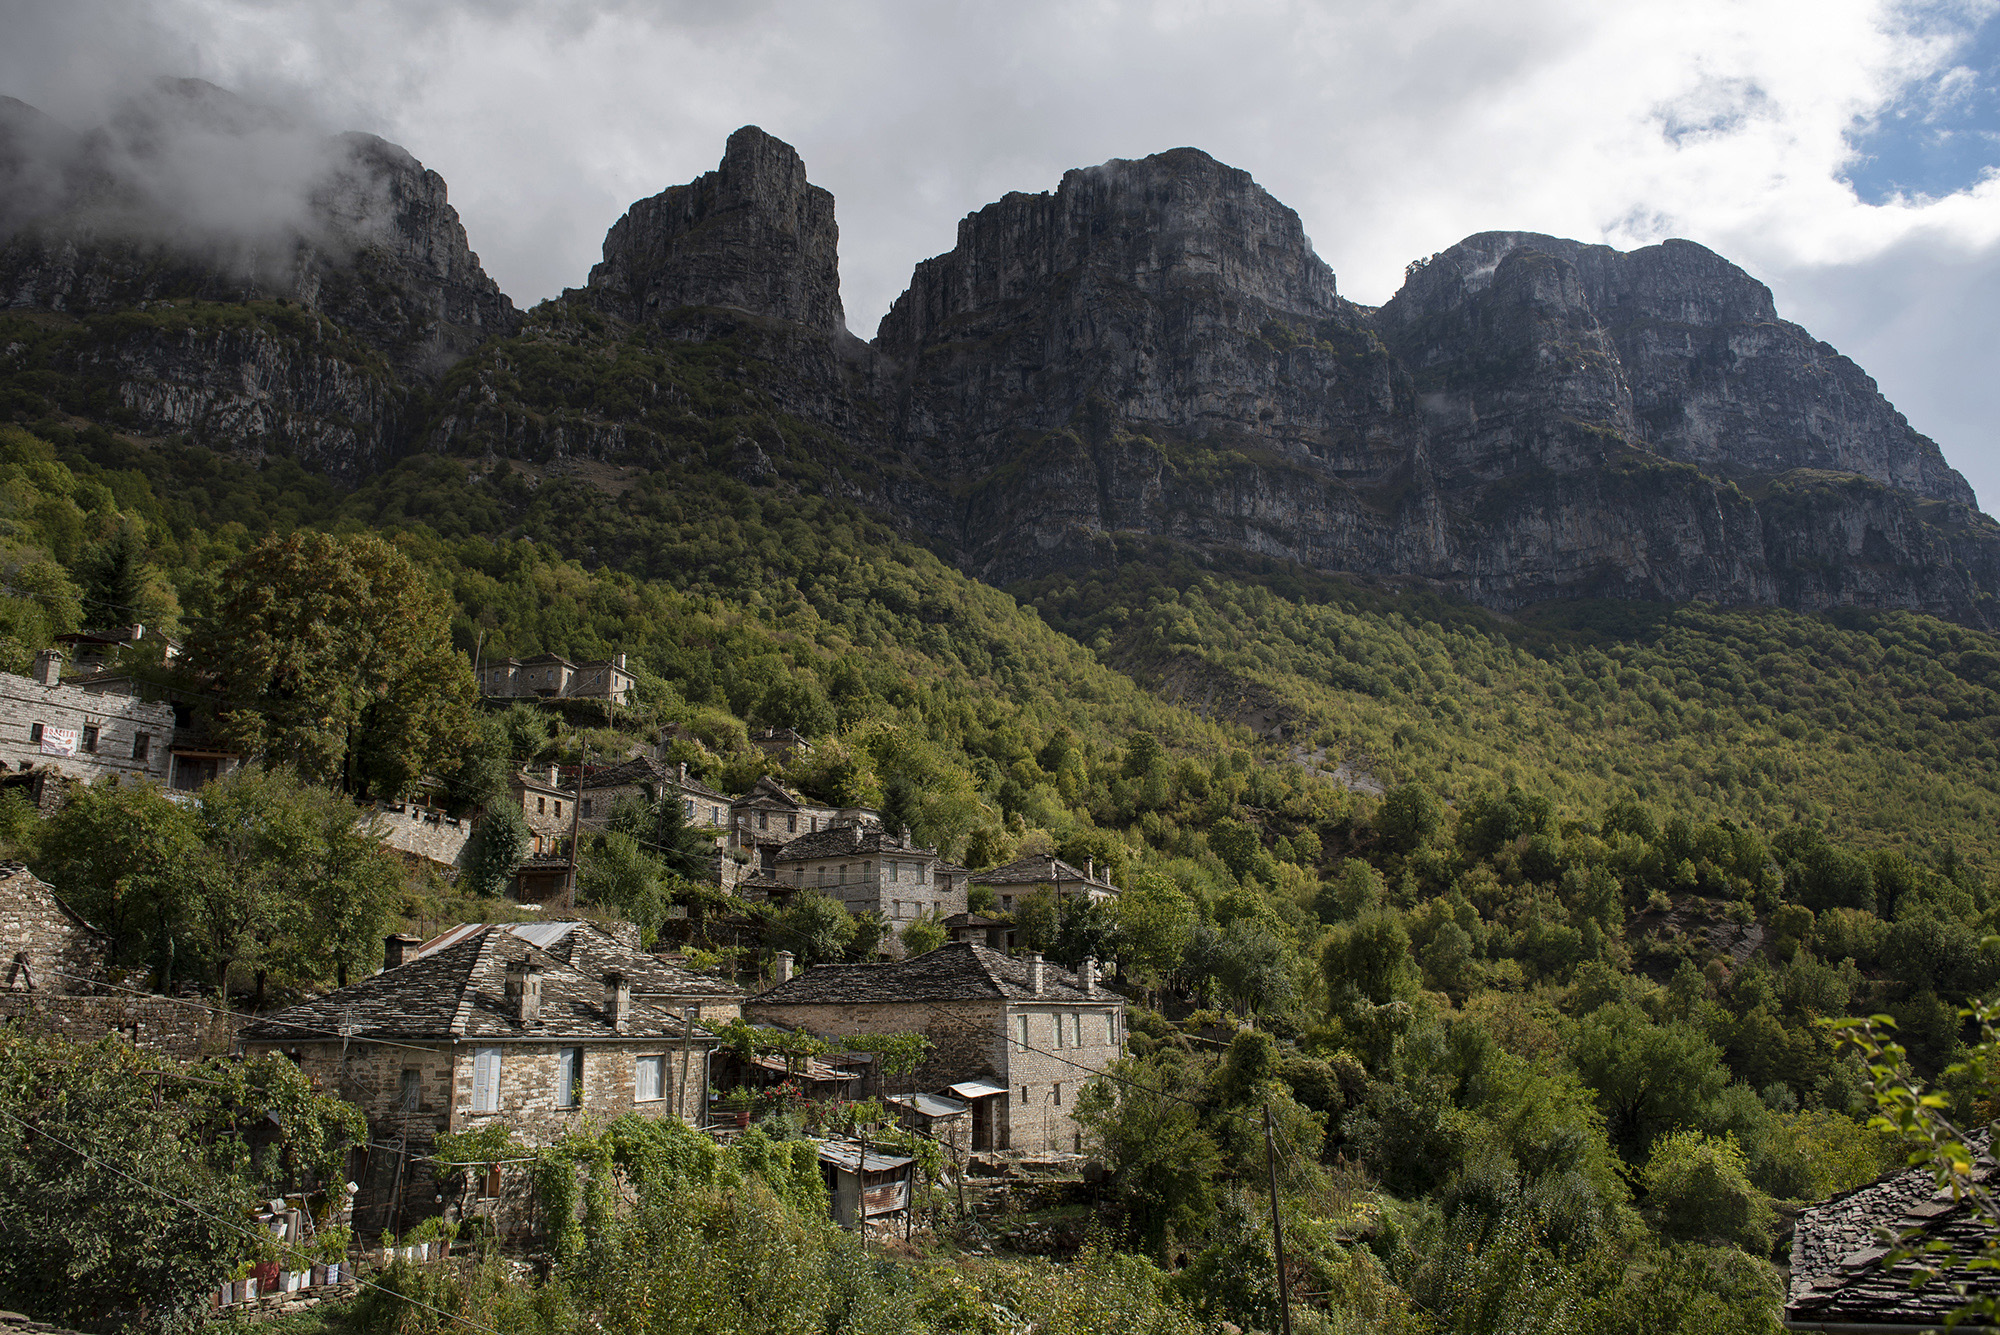
[[[588,294],[626,320],[720,306],[832,338],[848,328],[838,246],[834,196],[790,144],[744,126],[714,172],[612,224]]]

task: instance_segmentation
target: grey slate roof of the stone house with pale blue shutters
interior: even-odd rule
[[[556,927],[558,923],[526,923]],[[616,941],[614,941],[616,945]],[[632,951],[638,953],[638,951]],[[542,1015],[534,1025],[514,1017],[506,995],[506,965],[528,959],[542,969]],[[604,1015],[604,977],[584,973],[510,929],[484,925],[396,969],[340,987],[266,1015],[238,1031],[248,1041],[324,1041],[344,1029],[354,1039],[616,1039],[682,1037],[686,1027],[666,1005],[652,1003],[634,981],[632,1015],[624,1031]],[[708,1031],[694,1027],[696,1039]]]

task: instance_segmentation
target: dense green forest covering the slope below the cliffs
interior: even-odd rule
[[[1934,1075],[1958,1007],[2000,981],[1990,636],[1704,606],[1504,618],[1154,546],[1002,592],[820,496],[824,442],[724,374],[736,356],[542,308],[412,406],[486,384],[498,410],[352,490],[124,436],[90,384],[36,382],[0,428],[0,666],[108,620],[222,662],[244,590],[284,588],[266,540],[326,544],[312,568],[394,584],[394,626],[456,654],[370,668],[338,739],[258,713],[306,779],[394,797],[432,775],[472,805],[514,763],[664,743],[734,791],[774,763],[748,729],[790,725],[814,745],[776,773],[814,797],[974,867],[1110,867],[1116,907],[1028,903],[1018,925],[1116,961],[1134,1001],[1086,1119],[1120,1205],[1104,1241],[1144,1257],[1092,1265],[1152,1305],[1140,1329],[1272,1327],[1264,1107],[1304,1329],[1774,1329],[1788,1211],[1900,1153],[1820,1021],[1890,1013]],[[620,462],[488,452],[510,418],[580,430],[620,398]],[[758,484],[726,468],[746,432],[778,456]],[[542,650],[626,652],[636,701],[452,695],[474,656]],[[234,683],[218,725],[270,679]],[[10,825],[50,867],[90,843],[62,831]],[[670,843],[594,849],[612,907],[686,893]],[[294,955],[286,985],[332,981],[332,953]],[[894,1321],[826,1329],[982,1329],[898,1293]]]

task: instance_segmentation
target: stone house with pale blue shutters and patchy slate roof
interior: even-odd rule
[[[584,923],[446,935],[430,949],[390,937],[374,977],[240,1031],[246,1053],[282,1051],[366,1113],[370,1149],[350,1163],[356,1229],[402,1231],[436,1213],[438,1197],[526,1219],[518,1169],[436,1179],[440,1131],[498,1121],[546,1145],[624,1113],[700,1123],[716,1039],[674,997],[636,991],[658,981],[650,957]]]

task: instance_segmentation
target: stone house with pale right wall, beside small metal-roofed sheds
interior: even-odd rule
[[[1098,985],[1094,961],[1070,973],[964,941],[896,963],[806,969],[744,1001],[744,1015],[836,1043],[922,1033],[930,1061],[892,1083],[958,1091],[972,1103],[974,1149],[1080,1149],[1076,1095],[1126,1039],[1124,999]]]

